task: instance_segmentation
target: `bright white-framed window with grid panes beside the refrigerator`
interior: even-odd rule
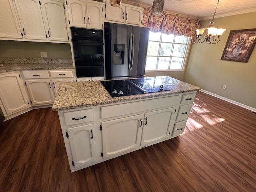
[[[189,45],[186,36],[149,32],[146,70],[184,70]]]

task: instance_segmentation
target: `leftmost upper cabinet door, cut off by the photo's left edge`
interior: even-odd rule
[[[0,37],[22,39],[18,17],[12,0],[3,0],[0,6]]]

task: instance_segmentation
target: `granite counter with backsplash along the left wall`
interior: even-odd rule
[[[16,70],[74,69],[72,58],[0,58],[0,73]]]

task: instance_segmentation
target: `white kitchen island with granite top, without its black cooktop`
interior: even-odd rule
[[[58,111],[72,172],[179,136],[199,87],[170,77],[169,90],[111,97],[100,81],[59,86]]]

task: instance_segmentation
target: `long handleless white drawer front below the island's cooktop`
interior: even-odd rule
[[[169,96],[158,99],[150,99],[137,102],[129,102],[125,104],[118,104],[112,106],[106,106],[101,108],[101,118],[111,118],[116,116],[122,116],[146,110],[153,110],[157,108],[163,108],[168,106],[174,106],[180,102],[180,96]]]

